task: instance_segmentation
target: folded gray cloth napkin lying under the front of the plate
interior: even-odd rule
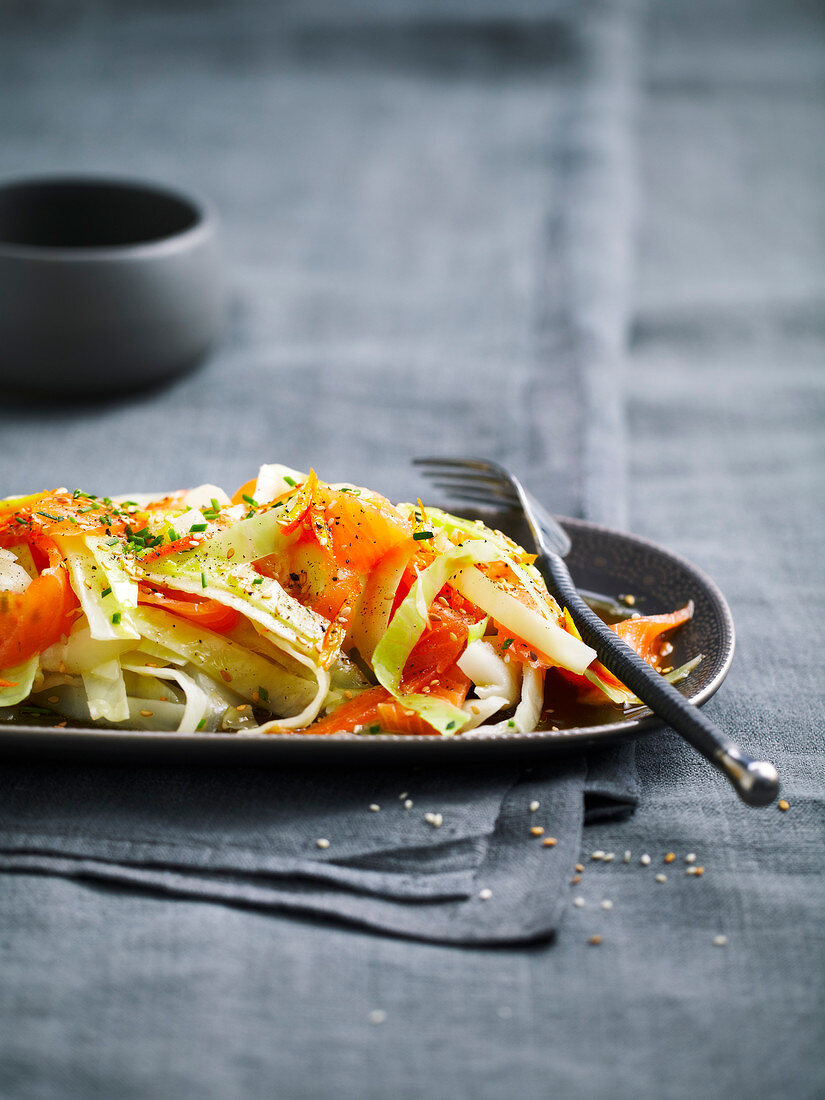
[[[540,939],[557,926],[586,801],[602,820],[635,804],[629,758],[610,756],[592,773],[581,757],[460,773],[7,762],[0,869],[418,939]]]

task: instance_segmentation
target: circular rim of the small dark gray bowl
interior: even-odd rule
[[[111,260],[139,260],[163,256],[191,248],[213,235],[218,218],[215,208],[200,195],[182,187],[154,179],[119,173],[43,173],[0,177],[0,193],[13,188],[42,186],[111,187],[116,190],[140,190],[166,199],[174,199],[191,208],[195,220],[177,233],[168,233],[148,241],[129,244],[70,245],[15,244],[0,239],[0,258],[25,260],[41,263],[89,263]]]

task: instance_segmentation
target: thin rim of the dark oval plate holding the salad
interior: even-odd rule
[[[697,692],[688,695],[686,698],[696,706],[704,705],[722,686],[727,676],[734,660],[736,649],[736,628],[730,607],[722,590],[698,565],[688,558],[671,550],[660,542],[649,539],[632,531],[619,530],[605,524],[593,522],[588,519],[580,519],[570,516],[554,517],[563,527],[570,528],[571,535],[575,537],[575,530],[586,530],[608,538],[619,538],[629,540],[635,546],[646,548],[654,553],[670,559],[682,570],[692,574],[698,585],[704,588],[714,606],[718,619],[722,624],[723,647],[719,651],[719,667],[714,676]],[[223,758],[220,750],[230,750],[231,746],[243,745],[248,751],[238,754],[238,762],[241,763],[249,755],[249,749],[262,748],[270,745],[273,748],[272,759],[280,758],[282,754],[275,749],[284,750],[284,755],[304,755],[301,750],[307,750],[308,756],[317,754],[317,746],[323,745],[322,757],[329,755],[330,749],[341,749],[346,754],[354,751],[367,751],[369,754],[381,750],[393,750],[397,755],[398,749],[404,748],[407,752],[430,754],[452,754],[458,746],[472,747],[476,752],[482,750],[525,750],[552,749],[553,751],[564,751],[585,746],[612,745],[617,741],[635,740],[639,737],[654,733],[663,728],[664,723],[651,712],[640,714],[636,718],[623,722],[605,723],[598,726],[576,726],[570,729],[559,730],[535,730],[529,734],[485,734],[474,736],[472,732],[457,737],[430,737],[420,734],[375,734],[370,737],[358,734],[255,734],[255,733],[202,733],[202,734],[179,734],[177,730],[135,730],[135,729],[109,729],[101,727],[66,727],[56,728],[54,726],[26,726],[18,723],[0,723],[0,751],[7,748],[14,750],[26,747],[34,748],[62,748],[69,747],[92,749],[100,752],[110,750],[136,750],[143,748],[145,757],[156,755],[152,750],[163,749],[163,752],[182,750],[198,747],[196,754],[191,754],[191,759],[197,762],[208,761],[212,757]],[[205,746],[210,748],[206,751]],[[354,749],[360,746],[359,749]],[[437,747],[438,746],[438,747]],[[459,751],[469,751],[459,749]],[[140,755],[140,754],[139,754]],[[231,752],[229,752],[231,755]],[[320,759],[320,758],[319,758]]]

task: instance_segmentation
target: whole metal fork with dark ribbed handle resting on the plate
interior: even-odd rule
[[[537,569],[605,668],[710,760],[732,782],[743,802],[765,806],[776,799],[779,777],[773,765],[747,756],[591,610],[562,560],[571,546],[566,532],[517,477],[485,459],[420,458],[413,461],[452,499],[483,507],[518,509],[536,543]]]

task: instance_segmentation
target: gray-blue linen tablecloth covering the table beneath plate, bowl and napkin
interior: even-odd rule
[[[403,496],[408,454],[455,444],[477,416],[487,453],[541,470],[532,487],[559,510],[596,514],[622,506],[626,427],[632,528],[732,601],[737,658],[708,706],[776,760],[790,809],[748,811],[675,737],[652,736],[636,814],[585,834],[557,941],[495,952],[3,875],[4,1091],[822,1096],[821,10],[680,0],[641,35],[632,9],[607,3],[518,3],[507,20],[421,4],[413,25],[394,3],[377,29],[358,6],[334,34],[318,9],[301,65],[277,75],[282,36],[244,10],[26,6],[0,37],[3,166],[208,185],[237,287],[220,355],[164,395],[72,414],[6,403],[3,477],[37,484],[59,462],[78,482],[101,466],[189,482],[207,457],[242,481],[288,441],[297,465],[380,473]],[[623,422],[635,75],[644,204]],[[207,147],[195,179],[187,158]],[[262,209],[277,240],[249,228]],[[242,402],[262,369],[272,393]],[[578,422],[582,393],[604,398],[609,447]],[[403,407],[410,435],[321,419],[359,399],[383,400],[387,424]],[[147,438],[173,408],[175,439]],[[579,484],[547,476],[571,469]],[[596,848],[630,862],[591,861]],[[684,873],[690,853],[702,877]]]

